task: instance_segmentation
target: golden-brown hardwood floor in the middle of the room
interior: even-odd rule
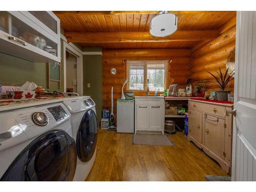
[[[183,132],[169,135],[174,146],[134,145],[131,137],[100,129],[87,181],[205,181],[205,175],[227,176]]]

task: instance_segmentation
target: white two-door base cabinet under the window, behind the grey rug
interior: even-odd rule
[[[164,134],[164,98],[135,98],[135,134]]]

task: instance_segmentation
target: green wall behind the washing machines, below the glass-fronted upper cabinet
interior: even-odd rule
[[[61,40],[61,58],[63,57],[63,41]],[[61,72],[63,72],[63,61],[61,59]],[[63,73],[61,74],[63,79]],[[0,81],[4,85],[22,86],[26,81],[35,82],[37,86],[47,87],[47,63],[31,62],[4,53],[0,53]],[[58,82],[51,81],[49,91],[63,91],[63,80],[61,88]]]

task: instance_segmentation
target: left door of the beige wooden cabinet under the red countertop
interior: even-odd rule
[[[188,118],[188,134],[202,143],[202,113],[190,110]]]

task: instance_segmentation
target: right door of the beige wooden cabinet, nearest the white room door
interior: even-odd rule
[[[205,146],[224,159],[225,120],[205,114]]]

